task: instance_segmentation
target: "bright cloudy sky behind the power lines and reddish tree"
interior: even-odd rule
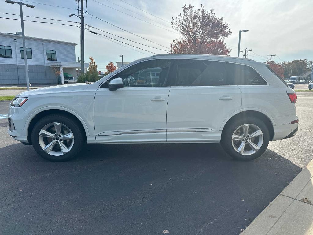
[[[23,8],[23,13],[26,16],[80,21],[75,16],[69,17],[71,13],[77,14],[77,3],[75,0],[31,0],[22,2],[35,5],[35,8]],[[86,0],[84,3],[86,5]],[[121,60],[119,55],[124,56],[124,61],[132,61],[150,56],[152,55],[151,52],[157,54],[166,53],[163,50],[168,50],[166,47],[169,47],[170,42],[180,37],[177,32],[171,29],[171,24],[168,22],[171,21],[172,17],[175,18],[182,12],[182,6],[185,3],[191,3],[196,8],[199,8],[200,3],[203,3],[206,9],[214,9],[218,17],[223,17],[230,24],[229,27],[233,34],[226,38],[225,42],[232,49],[231,56],[237,56],[239,30],[248,29],[249,32],[242,33],[241,49],[252,49],[252,52],[248,55],[250,59],[265,61],[267,55],[270,54],[276,54],[274,59],[276,62],[294,59],[313,59],[313,3],[311,0],[189,0],[185,2],[182,0],[87,0],[87,8],[85,8],[87,13],[156,44],[118,29],[89,14],[85,16],[85,24],[158,49],[117,38],[97,29],[91,29],[150,52],[120,42],[116,44],[112,42],[112,39],[110,39],[112,41],[109,41],[101,35],[85,31],[85,61],[89,62],[88,57],[93,56],[99,70],[105,70],[105,65],[108,61],[115,62]],[[49,6],[49,4],[60,7]],[[19,18],[19,16],[15,15],[3,14],[19,14],[18,5],[8,4],[4,0],[0,0],[0,6],[0,17]],[[79,25],[30,17],[24,17],[24,19]],[[17,20],[0,18],[0,21],[0,32],[2,33],[21,31],[20,22]],[[25,22],[24,24],[27,36],[80,43],[80,29],[78,27],[34,22]],[[79,55],[80,45],[77,45],[76,56],[78,57]]]

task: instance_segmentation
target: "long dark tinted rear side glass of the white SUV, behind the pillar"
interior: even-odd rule
[[[266,81],[251,67],[209,60],[178,60],[176,86],[258,86]]]

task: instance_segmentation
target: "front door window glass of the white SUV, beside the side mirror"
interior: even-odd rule
[[[123,80],[124,87],[166,86],[171,65],[170,59],[143,61],[117,73],[101,87],[108,87],[109,82],[117,77]]]

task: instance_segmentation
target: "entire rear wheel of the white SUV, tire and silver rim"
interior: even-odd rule
[[[259,118],[234,120],[223,130],[221,144],[234,159],[250,161],[261,156],[269,144],[269,130]]]

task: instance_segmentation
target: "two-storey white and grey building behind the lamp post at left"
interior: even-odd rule
[[[25,41],[30,83],[64,83],[64,76],[77,76],[77,44],[33,37]],[[22,35],[0,33],[0,84],[20,83],[26,83]]]

